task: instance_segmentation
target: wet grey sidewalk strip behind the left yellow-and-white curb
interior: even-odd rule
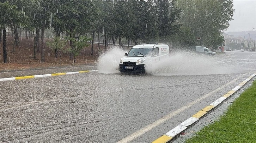
[[[0,72],[0,79],[8,78],[8,77],[17,77],[17,76],[54,74],[54,73],[65,73],[65,72],[96,70],[96,69],[97,69],[96,65],[86,65],[86,66],[71,66],[71,67],[36,68],[36,69],[24,69],[24,70],[2,70]]]

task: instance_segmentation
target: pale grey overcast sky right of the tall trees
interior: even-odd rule
[[[250,31],[256,28],[256,0],[233,0],[233,4],[233,20],[224,32]]]

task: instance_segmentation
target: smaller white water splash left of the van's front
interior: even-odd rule
[[[118,47],[110,47],[106,52],[100,54],[97,60],[98,72],[103,74],[119,73],[119,61],[124,57],[124,53],[127,51]]]

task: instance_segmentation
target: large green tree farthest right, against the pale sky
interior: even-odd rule
[[[182,8],[181,23],[200,37],[199,45],[216,47],[224,41],[221,31],[229,27],[234,9],[232,0],[177,0]]]

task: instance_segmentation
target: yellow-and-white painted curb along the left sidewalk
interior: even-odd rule
[[[2,78],[2,79],[0,79],[0,81],[10,81],[10,80],[32,79],[32,78],[37,78],[37,77],[47,77],[47,76],[58,76],[58,75],[88,73],[88,72],[92,72],[92,71],[98,71],[98,70],[83,70],[83,71],[73,71],[73,72],[68,72],[68,73],[54,73],[54,74],[43,74],[43,75],[8,77],[8,78]]]

